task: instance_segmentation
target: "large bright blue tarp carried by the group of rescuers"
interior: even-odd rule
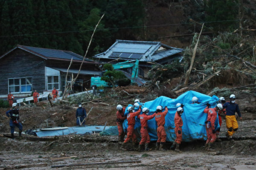
[[[196,96],[199,99],[198,102],[201,103],[192,104],[191,100],[193,96]],[[174,116],[178,108],[176,107],[176,104],[183,103],[184,112],[181,116],[183,120],[182,140],[184,142],[189,142],[195,139],[207,139],[204,123],[207,120],[207,113],[204,113],[204,109],[206,108],[207,102],[209,102],[211,108],[214,108],[218,104],[218,97],[210,97],[205,94],[198,93],[196,91],[187,91],[186,93],[178,96],[177,99],[171,99],[166,96],[160,96],[157,99],[145,102],[142,108],[148,108],[150,112],[152,112],[151,114],[153,114],[154,111],[156,111],[158,105],[168,107],[168,113],[166,114],[165,117],[166,123],[164,125],[167,134],[166,141],[173,142],[176,139],[174,131]],[[140,120],[137,118],[137,116],[135,120],[135,133],[137,136],[140,136]],[[123,127],[126,132],[128,127],[127,119],[125,119],[125,121],[123,122]],[[215,121],[215,129],[217,128],[220,128],[218,123],[218,115]],[[151,141],[157,140],[157,123],[154,118],[148,120],[148,132]]]

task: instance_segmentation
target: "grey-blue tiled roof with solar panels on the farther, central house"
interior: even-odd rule
[[[125,60],[139,59],[140,62],[157,61],[182,52],[161,42],[116,40],[107,51],[93,57],[103,59],[122,58]]]

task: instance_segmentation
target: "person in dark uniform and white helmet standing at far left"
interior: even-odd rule
[[[14,138],[14,128],[17,126],[19,128],[19,136],[21,136],[22,125],[18,120],[20,119],[19,109],[17,108],[17,103],[12,104],[12,109],[6,112],[6,116],[10,118],[9,125],[11,127],[11,135]]]

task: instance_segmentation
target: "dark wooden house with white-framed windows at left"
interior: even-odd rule
[[[17,45],[0,56],[0,98],[7,98],[9,92],[15,99],[30,96],[35,90],[43,94],[53,87],[61,94],[72,58],[68,80],[78,73],[83,56],[72,51]],[[86,58],[73,91],[90,87],[90,78],[100,72],[98,62]]]

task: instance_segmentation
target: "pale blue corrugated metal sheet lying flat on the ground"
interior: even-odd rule
[[[105,129],[108,129],[110,126],[106,126]],[[39,137],[43,136],[60,136],[60,135],[68,135],[70,133],[76,132],[76,134],[84,134],[84,133],[93,133],[93,132],[101,132],[104,129],[104,126],[74,126],[67,127],[67,129],[56,129],[56,130],[35,130],[35,133]]]

